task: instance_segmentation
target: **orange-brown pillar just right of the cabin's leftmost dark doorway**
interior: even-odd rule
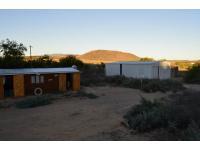
[[[13,76],[14,97],[24,96],[24,75]]]

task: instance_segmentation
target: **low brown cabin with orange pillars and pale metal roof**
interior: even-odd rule
[[[74,68],[0,69],[0,98],[79,89],[80,72]]]

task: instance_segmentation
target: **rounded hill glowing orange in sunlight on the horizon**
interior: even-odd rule
[[[131,53],[111,50],[93,50],[83,55],[79,55],[77,58],[85,63],[136,61],[140,59],[138,56]]]

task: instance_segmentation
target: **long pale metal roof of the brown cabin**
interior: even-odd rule
[[[19,69],[0,69],[0,75],[16,74],[51,74],[51,73],[74,73],[79,72],[74,68],[19,68]]]

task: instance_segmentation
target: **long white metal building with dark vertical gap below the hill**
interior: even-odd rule
[[[105,71],[107,76],[124,75],[140,79],[171,78],[171,68],[167,61],[107,63]]]

